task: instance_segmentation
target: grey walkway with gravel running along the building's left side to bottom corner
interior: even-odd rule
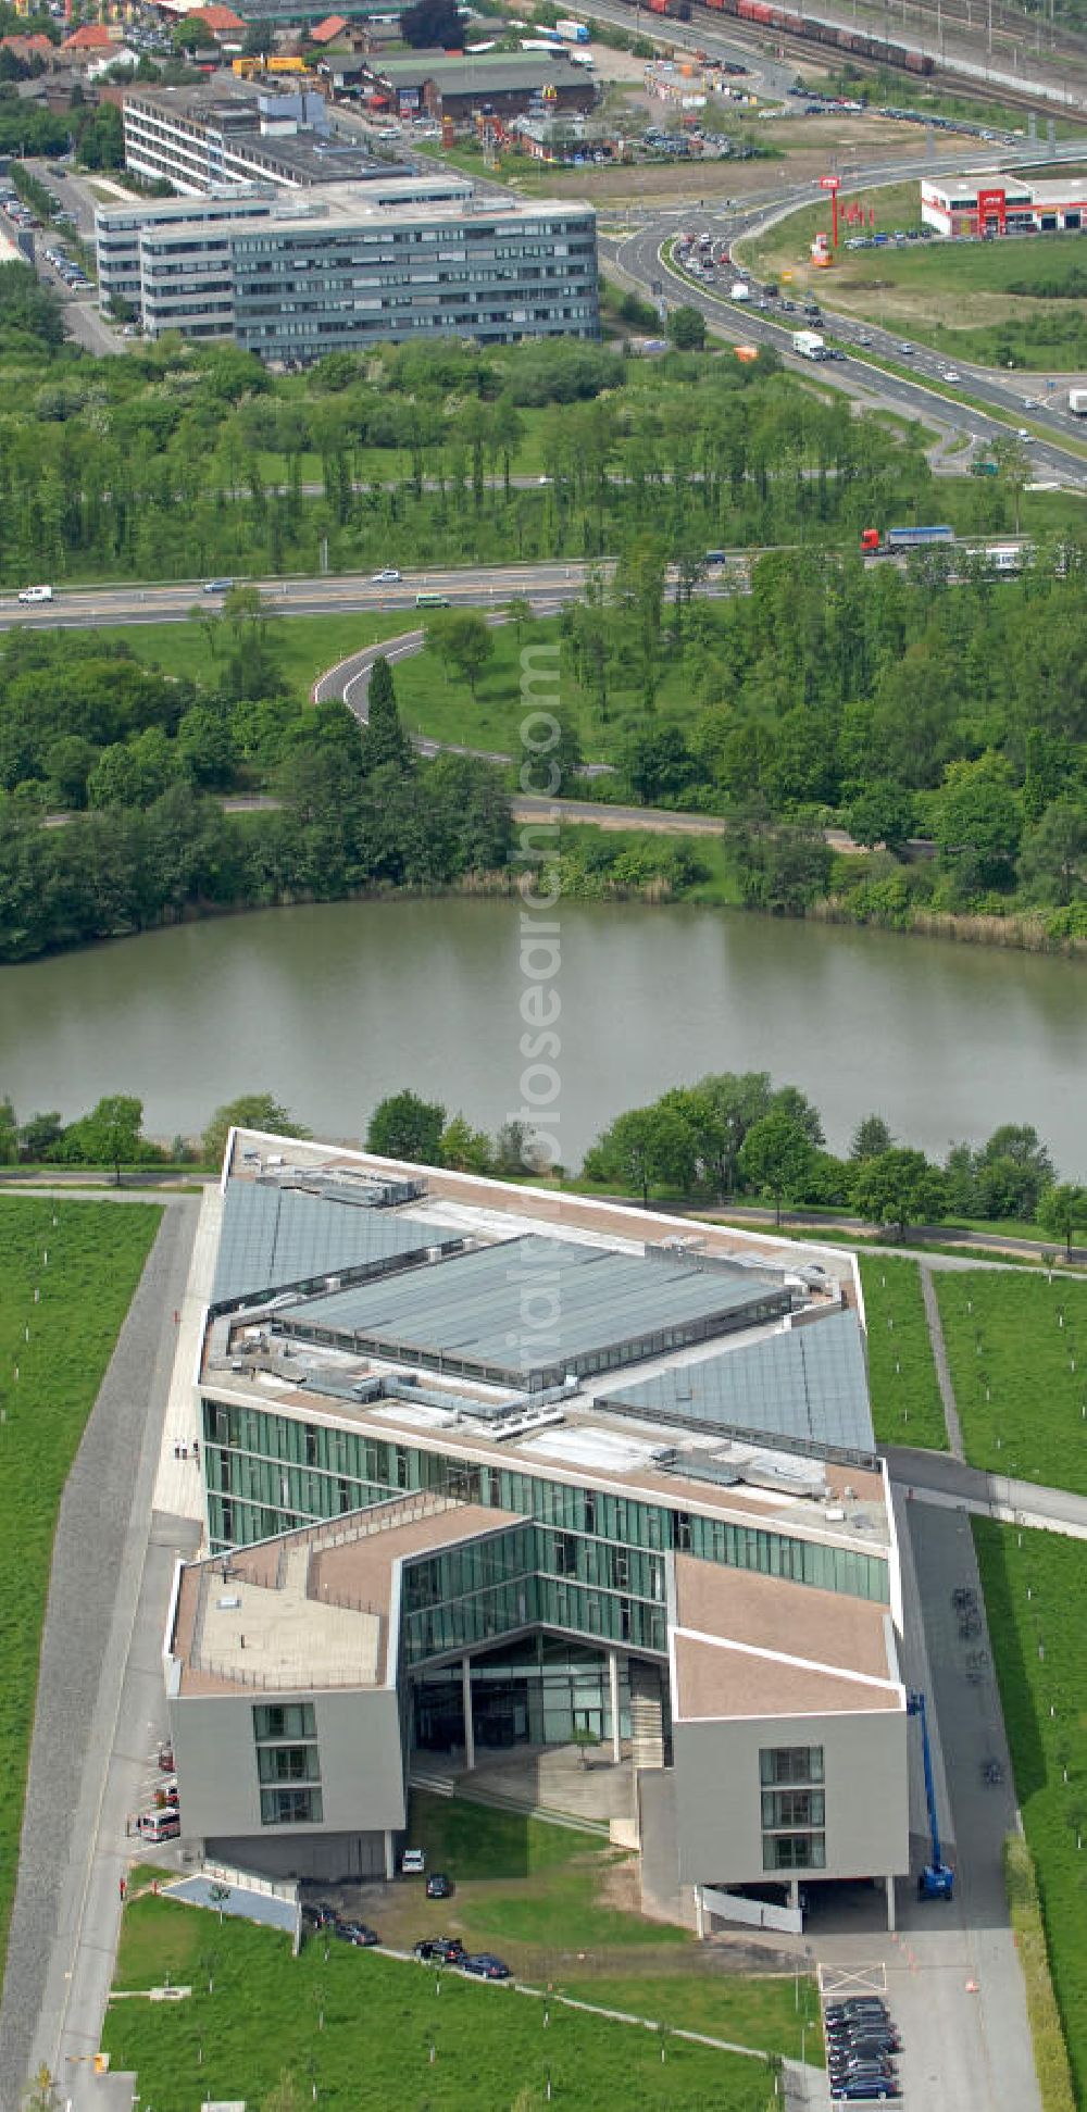
[[[125,1818],[120,1840],[116,1833],[99,1840],[99,1821],[175,1350],[163,1312],[182,1303],[194,1227],[194,1202],[163,1217],[61,1500],[0,2006],[4,2112],[19,2104],[32,2066],[46,2061],[59,2072],[65,2015],[78,2004],[76,1977],[68,1975],[84,1928],[106,1979],[112,1964]],[[163,1696],[160,1616],[154,1664]],[[133,1770],[146,1766],[154,1736],[144,1696],[139,1706],[129,1747]],[[125,1808],[133,1808],[131,1795]]]

